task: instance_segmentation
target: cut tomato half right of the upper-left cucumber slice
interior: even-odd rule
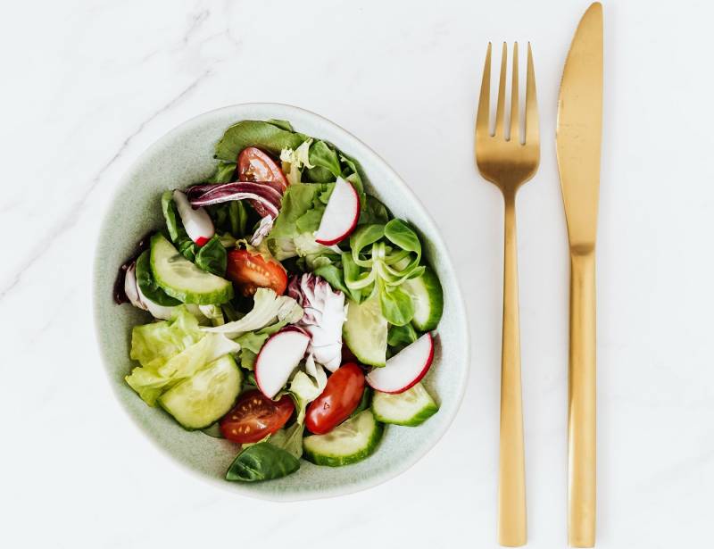
[[[287,273],[279,262],[248,250],[228,252],[226,276],[240,287],[243,295],[253,295],[259,287],[270,287],[282,295],[287,287]]]

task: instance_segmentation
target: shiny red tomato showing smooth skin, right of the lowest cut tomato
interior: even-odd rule
[[[354,362],[343,364],[328,378],[322,394],[307,407],[305,427],[315,435],[324,435],[342,423],[360,404],[364,392],[364,374]]]

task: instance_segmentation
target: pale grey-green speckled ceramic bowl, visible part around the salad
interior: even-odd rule
[[[307,135],[326,139],[361,163],[366,187],[396,217],[419,229],[428,261],[444,286],[444,318],[439,324],[434,363],[425,383],[436,395],[439,412],[417,428],[387,426],[376,453],[346,467],[318,467],[304,460],[295,474],[262,483],[224,479],[237,446],[179,427],[166,413],[147,406],[125,383],[131,328],[149,320],[128,304],[112,301],[120,264],[137,241],[162,226],[161,195],[169,188],[201,182],[213,171],[213,146],[231,124],[242,120],[280,119]],[[95,328],[114,393],[146,436],[189,470],[238,494],[295,501],[349,494],[375,486],[411,467],[436,444],[461,403],[469,367],[466,313],[452,262],[434,222],[409,187],[377,154],[345,129],[317,114],[284,104],[239,104],[206,112],[181,124],[151,146],[120,181],[104,218],[95,255]]]

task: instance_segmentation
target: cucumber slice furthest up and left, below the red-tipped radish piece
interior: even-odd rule
[[[151,237],[154,280],[171,297],[185,304],[224,304],[233,297],[233,285],[199,269],[161,234]]]

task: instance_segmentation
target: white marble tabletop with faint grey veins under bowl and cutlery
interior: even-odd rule
[[[566,544],[568,265],[554,154],[560,70],[586,3],[15,2],[0,19],[0,545],[495,546],[502,205],[471,156],[486,41],[530,39],[543,159],[519,195],[529,545]],[[605,5],[599,543],[711,545],[714,305],[705,2]],[[221,105],[320,112],[400,172],[443,229],[472,375],[412,470],[336,500],[208,486],[156,451],[99,363],[95,234],[120,174]]]

